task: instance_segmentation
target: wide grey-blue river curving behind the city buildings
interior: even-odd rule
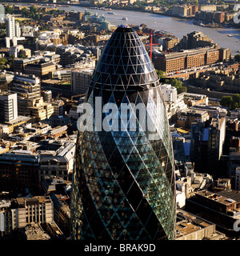
[[[16,5],[29,6],[26,3],[16,3]],[[86,7],[69,6],[58,7],[59,9],[70,11],[84,11]],[[208,35],[218,46],[223,48],[229,48],[232,50],[232,54],[237,54],[240,50],[240,28],[210,28],[197,26],[193,24],[193,19],[174,18],[165,15],[151,14],[147,12],[131,11],[131,10],[94,10],[89,11],[98,13],[98,15],[104,14],[106,20],[112,25],[121,25],[127,23],[130,25],[140,25],[145,23],[146,26],[154,30],[165,30],[174,34],[177,38],[181,39],[183,35],[186,35],[193,31],[200,31],[203,34]],[[115,14],[108,14],[108,12],[114,12]],[[123,21],[122,18],[127,17],[127,21]],[[232,34],[233,37],[228,37],[228,34]]]

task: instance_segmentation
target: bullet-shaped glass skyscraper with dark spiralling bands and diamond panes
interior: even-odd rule
[[[72,238],[174,239],[174,157],[166,109],[158,76],[131,27],[119,26],[107,42],[86,102],[93,109],[93,129],[78,132]],[[107,117],[99,106],[110,104],[118,113],[109,126],[118,125],[97,127],[99,113],[102,126]],[[131,108],[125,118],[123,106]],[[133,111],[135,106],[141,107]]]

